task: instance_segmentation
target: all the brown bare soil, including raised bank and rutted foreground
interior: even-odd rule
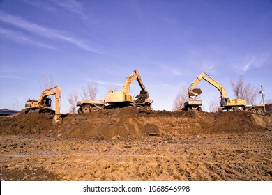
[[[272,180],[272,116],[112,109],[0,118],[1,180]]]

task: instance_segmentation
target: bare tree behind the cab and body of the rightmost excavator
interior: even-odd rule
[[[230,84],[236,98],[241,98],[248,102],[248,104],[255,104],[258,94],[255,86],[252,86],[250,83],[246,84],[242,76],[237,81],[231,79]]]

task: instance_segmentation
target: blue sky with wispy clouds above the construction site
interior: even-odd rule
[[[38,99],[43,75],[68,93],[98,83],[97,99],[133,70],[153,109],[172,110],[182,86],[207,72],[234,98],[230,79],[242,75],[272,99],[272,1],[0,0],[0,108]],[[220,94],[202,81],[208,103]],[[130,90],[139,93],[137,81]],[[80,100],[82,100],[80,96]],[[261,101],[258,96],[257,104]]]

